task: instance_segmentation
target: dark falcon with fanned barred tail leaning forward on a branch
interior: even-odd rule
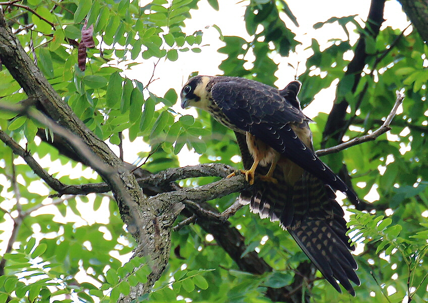
[[[278,90],[244,78],[195,76],[181,91],[181,107],[208,111],[235,131],[246,179],[253,184],[241,192],[241,203],[261,218],[279,221],[337,291],[339,281],[355,295],[350,281],[360,281],[349,251],[354,247],[333,190],[354,203],[358,198],[315,155],[299,90],[298,81]]]

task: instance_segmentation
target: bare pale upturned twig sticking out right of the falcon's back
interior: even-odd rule
[[[316,151],[317,156],[325,156],[328,154],[338,153],[339,151],[349,148],[351,146],[361,144],[363,142],[373,141],[380,135],[386,133],[387,131],[391,130],[390,124],[392,122],[392,119],[394,118],[395,114],[397,113],[397,109],[400,106],[400,104],[403,102],[404,95],[397,92],[397,99],[394,104],[393,109],[391,110],[391,113],[389,113],[388,117],[385,119],[384,124],[377,130],[373,131],[371,134],[364,135],[361,137],[353,138],[349,141],[343,142],[341,144],[338,144],[336,146],[332,146],[329,148],[319,149]]]

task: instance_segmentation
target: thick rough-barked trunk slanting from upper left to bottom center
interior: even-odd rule
[[[0,60],[24,89],[29,99],[37,100],[45,114],[38,113],[39,117],[47,121],[45,116],[48,116],[53,120],[49,121],[50,124],[57,124],[65,130],[70,130],[79,138],[79,144],[81,144],[79,147],[90,150],[98,160],[111,168],[110,172],[106,172],[97,166],[93,167],[115,194],[122,219],[128,225],[128,230],[136,237],[138,246],[135,255],[148,255],[152,260],[152,272],[148,276],[147,283],[133,287],[131,294],[123,301],[131,301],[149,291],[168,264],[171,227],[183,206],[171,200],[155,200],[151,201],[151,205],[148,204],[135,176],[105,142],[97,138],[77,118],[34,65],[19,40],[7,26],[1,10]],[[21,114],[29,113],[29,111],[35,112],[31,104],[28,105],[28,108],[24,106]],[[65,137],[65,139],[69,138]],[[86,161],[91,163],[88,159]],[[141,228],[142,226],[144,228]]]

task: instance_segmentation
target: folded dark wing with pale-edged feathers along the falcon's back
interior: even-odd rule
[[[326,184],[345,192],[349,199],[358,201],[355,193],[294,133],[290,124],[306,123],[307,118],[277,89],[243,78],[215,77],[212,81],[213,101],[234,126],[250,132]]]

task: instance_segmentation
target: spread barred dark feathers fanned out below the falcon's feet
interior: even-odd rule
[[[252,160],[245,136],[237,133],[237,138],[244,168],[248,169]],[[268,169],[259,166],[256,173],[265,175]],[[344,212],[332,188],[307,172],[290,185],[281,167],[277,167],[273,177],[278,184],[256,179],[251,189],[241,192],[240,202],[249,204],[251,212],[261,218],[279,221],[337,291],[341,292],[339,281],[355,295],[350,281],[356,285],[360,281],[355,274],[357,264],[349,251],[354,247],[350,246]]]

